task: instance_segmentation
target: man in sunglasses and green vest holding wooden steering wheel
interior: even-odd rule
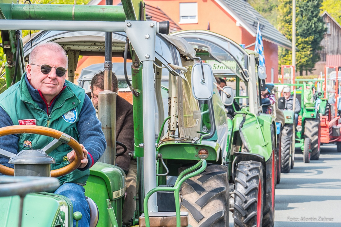
[[[60,45],[38,44],[30,54],[21,80],[0,95],[0,127],[44,126],[62,131],[80,143],[84,159],[75,171],[58,177],[60,187],[55,193],[71,200],[73,211],[83,215],[79,226],[86,227],[90,223],[90,210],[83,185],[89,177],[89,168],[102,156],[106,141],[90,98],[83,88],[65,81],[67,67],[68,57]],[[15,154],[24,149],[42,149],[51,141],[44,135],[26,133],[0,137],[1,148]],[[56,163],[51,164],[54,170],[73,162],[76,155],[63,144],[49,156],[55,159]],[[13,168],[4,158],[0,158],[0,164]]]

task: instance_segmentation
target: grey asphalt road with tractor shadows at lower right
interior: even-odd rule
[[[275,196],[275,227],[341,226],[341,153],[336,145],[321,146],[320,160],[310,163],[296,152],[294,168],[281,174]]]

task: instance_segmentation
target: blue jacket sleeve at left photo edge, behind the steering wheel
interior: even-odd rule
[[[10,116],[0,107],[0,128],[13,125]],[[0,148],[14,154],[18,153],[18,134],[0,136]],[[0,164],[14,168],[13,164],[8,164],[8,159],[0,157]],[[0,173],[0,175],[2,175]]]

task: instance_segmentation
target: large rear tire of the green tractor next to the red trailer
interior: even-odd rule
[[[311,140],[311,160],[320,159],[320,117],[308,118],[304,124],[304,134]]]

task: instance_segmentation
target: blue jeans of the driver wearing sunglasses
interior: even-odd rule
[[[85,189],[76,183],[64,183],[56,191],[55,194],[63,195],[71,200],[73,212],[79,211],[83,217],[78,222],[78,226],[89,227],[90,225],[90,209],[88,202],[85,200]],[[72,214],[71,214],[72,216]],[[76,221],[73,220],[73,227]]]

